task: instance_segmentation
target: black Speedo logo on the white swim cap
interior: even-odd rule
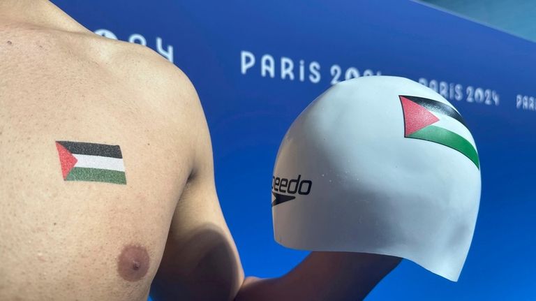
[[[313,181],[301,179],[301,175],[298,175],[297,179],[274,176],[271,179],[271,194],[274,195],[275,200],[271,202],[271,206],[294,200],[296,194],[306,196],[311,192],[312,186]]]

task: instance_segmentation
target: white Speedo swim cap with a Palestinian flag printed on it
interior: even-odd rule
[[[445,98],[405,78],[347,80],[281,143],[274,236],[294,249],[407,258],[457,281],[480,188],[475,141]]]

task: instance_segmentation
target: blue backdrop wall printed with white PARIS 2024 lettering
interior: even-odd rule
[[[306,256],[276,244],[271,228],[271,172],[292,120],[333,82],[400,75],[461,111],[482,200],[458,283],[405,260],[367,300],[536,299],[534,43],[405,0],[54,3],[99,34],[146,43],[191,78],[246,274],[275,277]]]

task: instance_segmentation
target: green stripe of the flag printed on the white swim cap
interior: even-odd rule
[[[478,153],[475,147],[473,147],[471,142],[466,140],[466,138],[463,138],[461,135],[452,131],[442,129],[438,126],[426,126],[424,129],[420,129],[408,137],[437,142],[446,145],[447,147],[452,147],[458,152],[466,155],[473,163],[475,163],[477,168],[480,168]]]

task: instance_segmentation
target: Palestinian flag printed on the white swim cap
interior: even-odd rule
[[[417,96],[400,96],[404,137],[436,142],[456,149],[480,168],[477,147],[460,113],[451,105]]]

